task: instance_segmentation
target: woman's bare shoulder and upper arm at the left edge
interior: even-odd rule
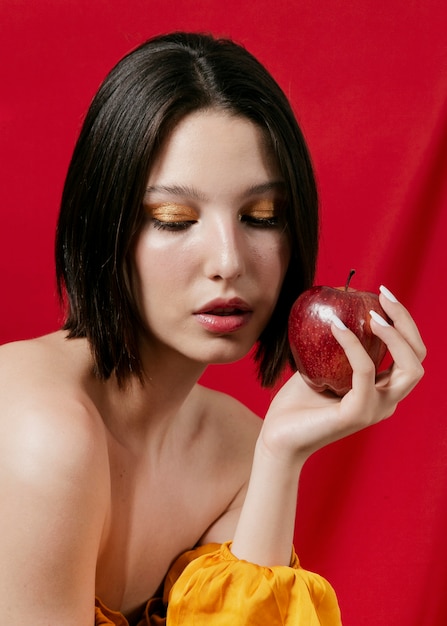
[[[104,433],[69,361],[57,337],[0,348],[0,604],[35,624],[91,620],[106,514]]]

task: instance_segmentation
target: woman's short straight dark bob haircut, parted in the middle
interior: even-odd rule
[[[318,200],[308,150],[291,106],[267,70],[242,46],[199,33],[150,39],[110,72],[87,112],[67,173],[56,234],[59,296],[68,337],[86,337],[95,371],[120,385],[144,379],[142,321],[132,293],[131,253],[142,200],[160,146],[186,115],[220,109],[245,117],[267,137],[286,186],[291,260],[255,351],[272,386],[293,361],[287,320],[314,280]]]

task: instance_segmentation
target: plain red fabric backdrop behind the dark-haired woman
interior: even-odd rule
[[[413,311],[426,376],[386,423],[316,454],[296,547],[346,626],[441,626],[447,588],[444,0],[2,0],[0,343],[58,326],[52,247],[64,174],[100,80],[173,29],[247,45],[307,136],[322,204],[318,281],[383,282]],[[249,359],[205,381],[264,412]],[[262,520],[259,520],[262,524]]]

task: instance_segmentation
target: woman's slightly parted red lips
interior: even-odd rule
[[[232,333],[245,326],[251,316],[252,309],[240,298],[230,300],[217,299],[208,302],[194,313],[197,321],[212,333]]]

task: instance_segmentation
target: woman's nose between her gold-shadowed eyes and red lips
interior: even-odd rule
[[[239,221],[217,221],[207,237],[207,276],[225,281],[238,278],[245,269],[245,252],[246,242]]]

